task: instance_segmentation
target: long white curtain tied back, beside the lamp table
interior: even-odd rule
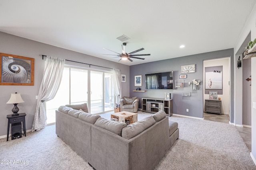
[[[32,124],[32,132],[46,127],[45,102],[52,100],[56,95],[62,79],[64,59],[47,57],[44,65],[44,76],[38,92],[36,113]]]

